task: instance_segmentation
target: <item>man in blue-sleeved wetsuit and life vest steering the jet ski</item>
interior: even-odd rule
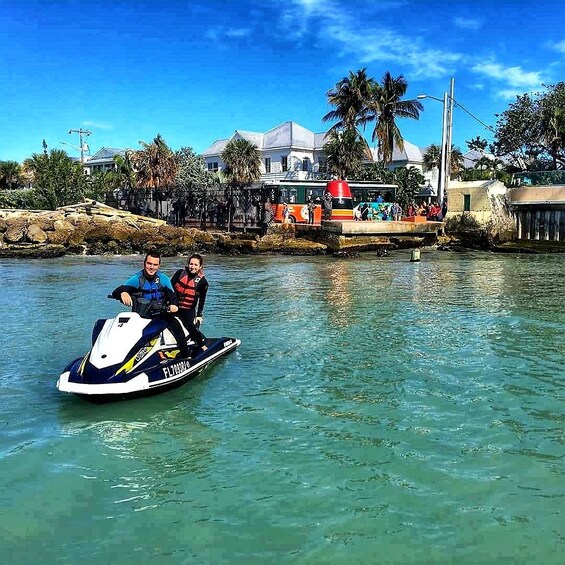
[[[161,255],[157,251],[150,251],[143,260],[143,269],[115,288],[112,291],[112,298],[129,307],[133,306],[134,298],[149,300],[157,310],[152,318],[165,321],[177,342],[180,357],[188,357],[189,350],[184,331],[173,316],[178,311],[178,300],[171,279],[159,270],[160,267]]]

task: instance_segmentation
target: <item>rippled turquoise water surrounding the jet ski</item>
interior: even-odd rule
[[[210,257],[241,347],[103,406],[55,382],[141,259],[0,261],[0,558],[562,563],[564,261]]]

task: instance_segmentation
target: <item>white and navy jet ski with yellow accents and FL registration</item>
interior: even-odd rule
[[[94,403],[152,396],[193,379],[241,344],[233,337],[208,338],[202,351],[188,341],[190,356],[180,358],[174,337],[164,320],[153,317],[156,313],[154,304],[138,298],[132,312],[98,320],[92,348],[65,367],[57,388]]]

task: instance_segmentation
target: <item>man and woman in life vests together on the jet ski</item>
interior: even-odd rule
[[[183,326],[200,351],[207,349],[206,337],[199,327],[208,292],[203,263],[202,256],[194,253],[188,258],[186,266],[177,270],[171,279],[160,270],[160,254],[149,252],[143,260],[143,269],[112,292],[113,298],[128,307],[132,307],[134,300],[139,298],[150,304],[149,315],[165,322],[177,342],[179,358],[187,358],[191,354]]]

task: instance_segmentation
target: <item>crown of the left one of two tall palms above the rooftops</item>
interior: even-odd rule
[[[351,128],[359,132],[359,126],[364,127],[369,119],[369,103],[375,86],[374,79],[368,77],[367,69],[363,68],[356,73],[349,71],[349,76],[328,90],[328,104],[335,106],[335,110],[328,112],[322,120],[337,120],[328,133]]]

